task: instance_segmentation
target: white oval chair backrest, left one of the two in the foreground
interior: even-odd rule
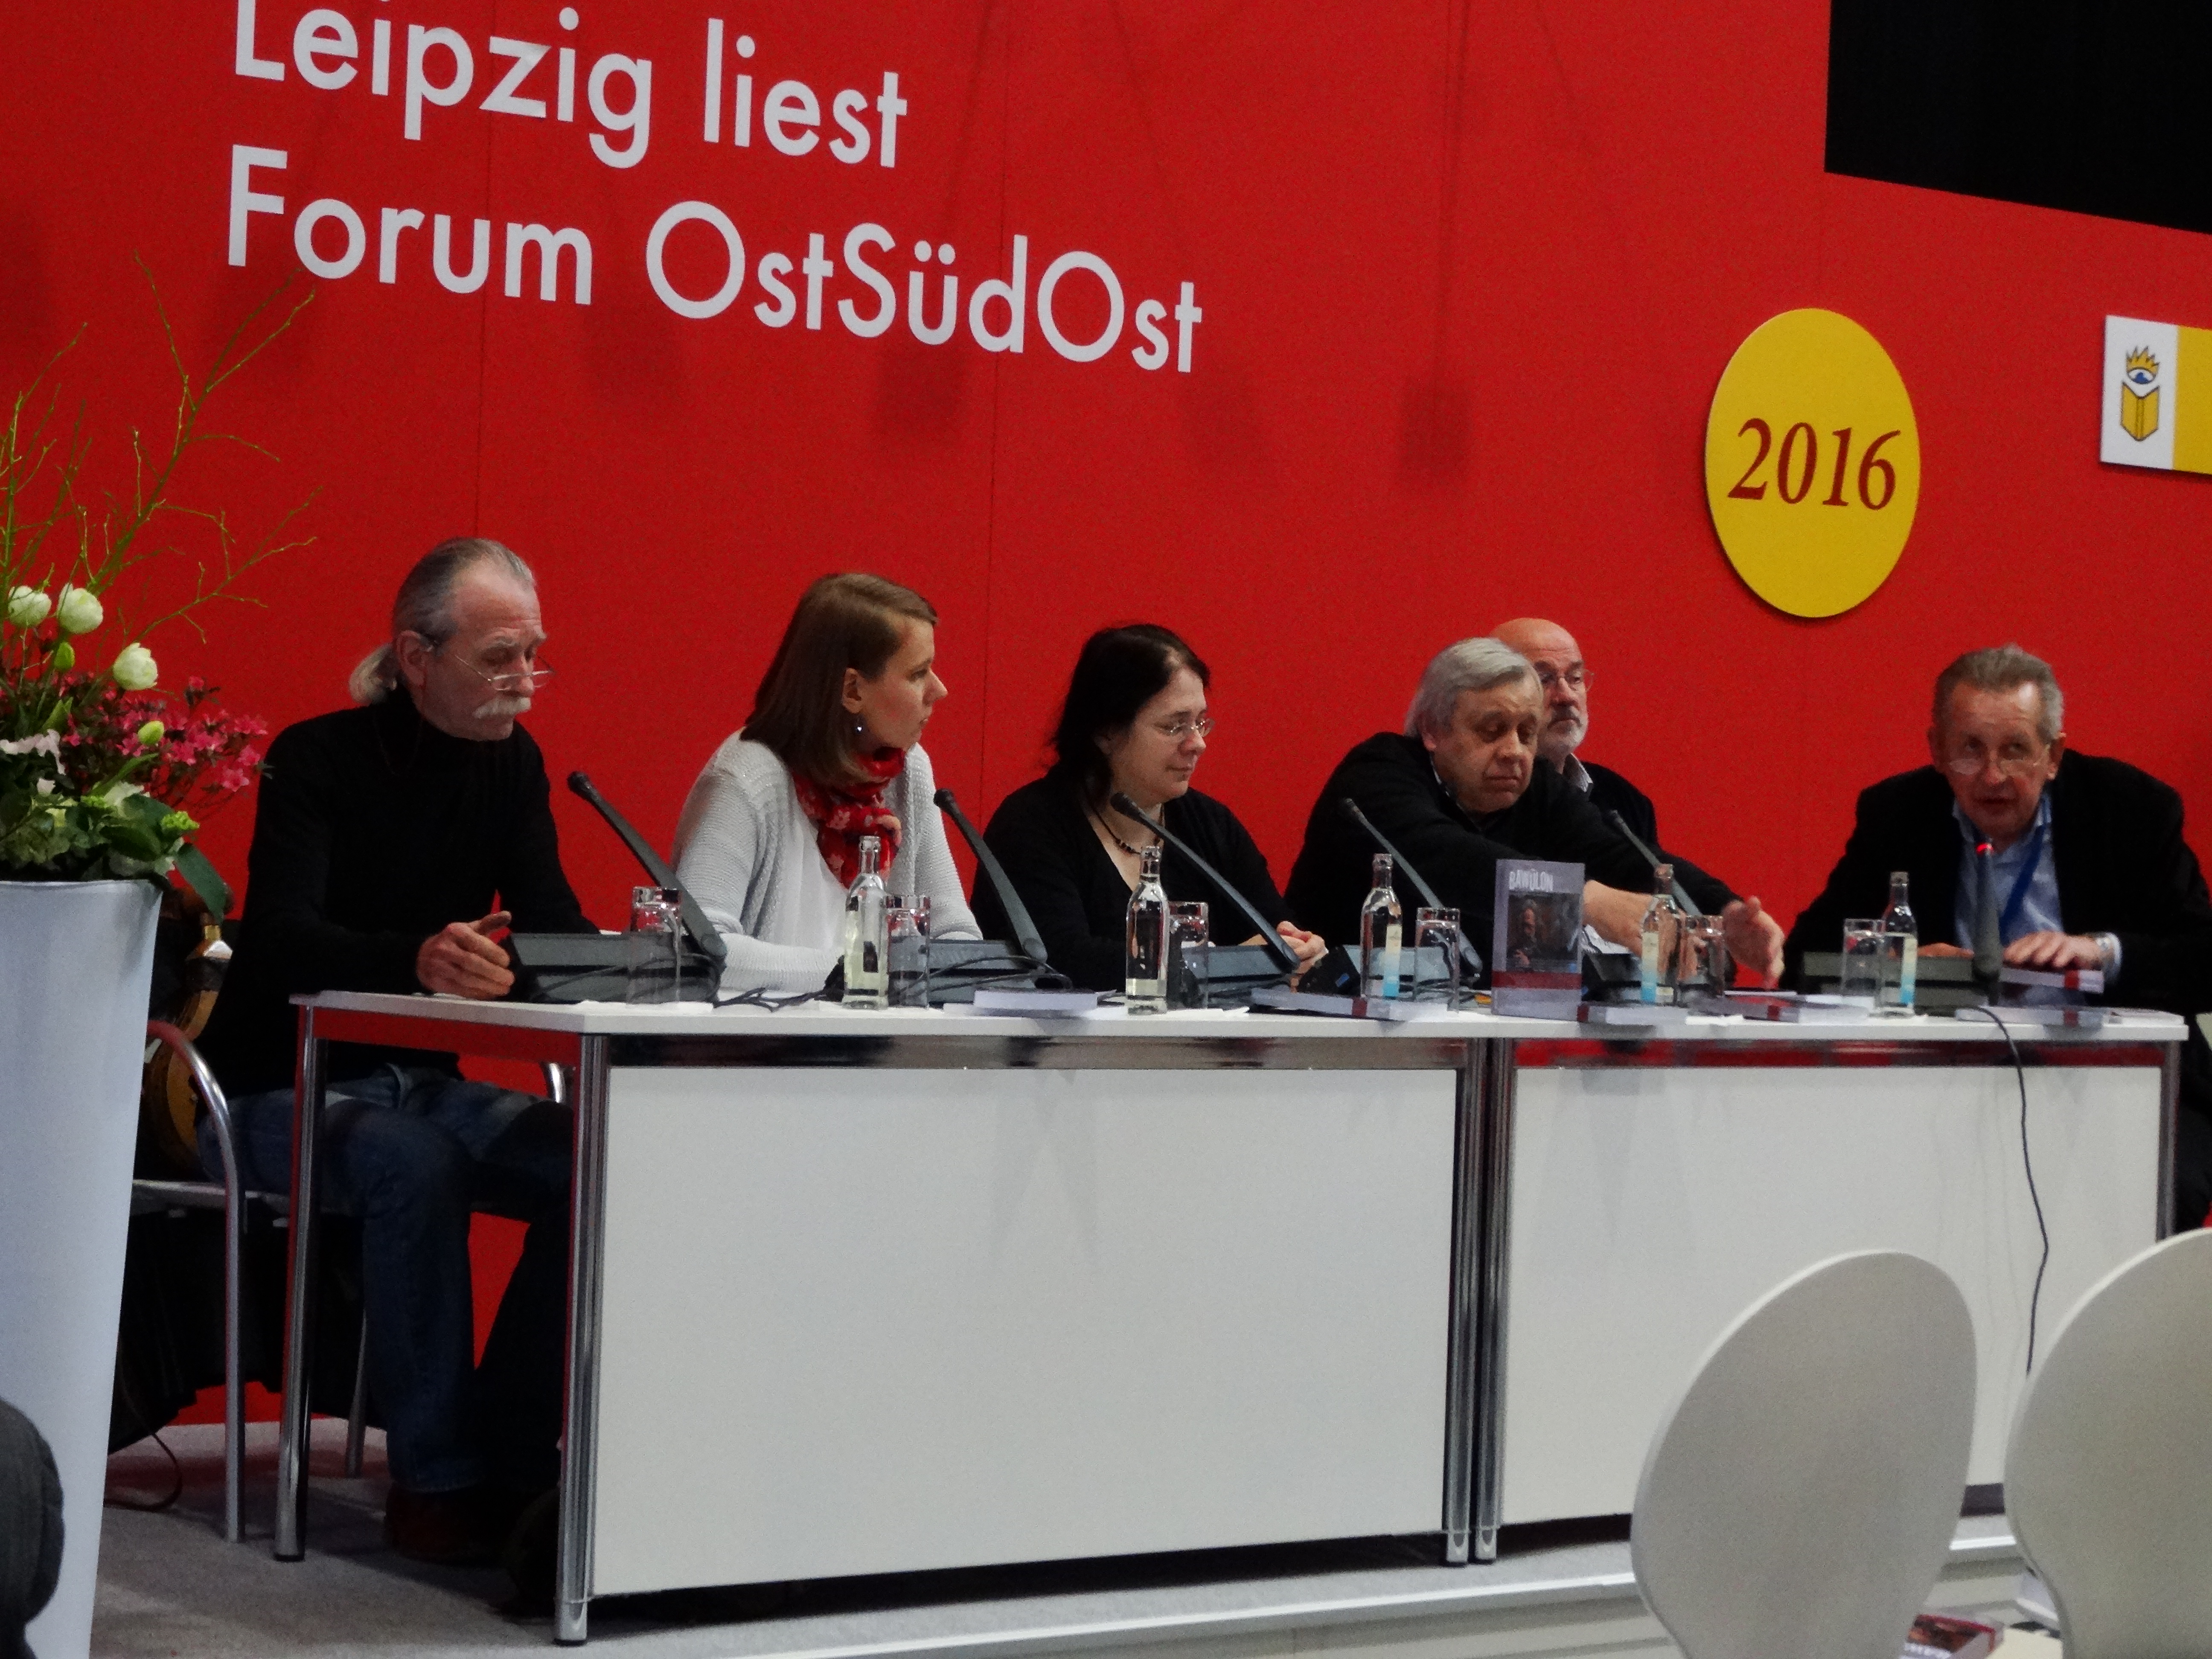
[[[1688,1659],[1896,1659],[1942,1571],[1973,1440],[1973,1321],[1867,1250],[1752,1303],[1644,1460],[1630,1559]]]

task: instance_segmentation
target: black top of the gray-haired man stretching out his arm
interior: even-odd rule
[[[1621,841],[1597,807],[1548,765],[1537,765],[1528,790],[1504,812],[1473,818],[1436,779],[1418,737],[1376,732],[1329,774],[1305,821],[1305,845],[1290,869],[1290,914],[1329,940],[1356,940],[1360,900],[1367,898],[1376,847],[1343,810],[1360,803],[1376,830],[1418,869],[1436,896],[1460,911],[1460,927],[1484,956],[1491,953],[1491,916],[1500,858],[1557,858],[1579,863],[1588,880],[1646,894],[1650,865]],[[1721,909],[1732,891],[1690,863],[1674,860],[1674,876],[1701,909]],[[1398,874],[1398,896],[1422,902]]]

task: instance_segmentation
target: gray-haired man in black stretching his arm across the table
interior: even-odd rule
[[[1458,907],[1478,949],[1491,942],[1500,858],[1579,863],[1588,878],[1584,920],[1635,949],[1652,867],[1557,768],[1537,765],[1542,723],[1537,672],[1517,650],[1462,639],[1436,653],[1405,730],[1358,743],[1323,785],[1283,894],[1298,925],[1323,938],[1358,938],[1378,849],[1345,812],[1349,796],[1438,898]],[[1734,960],[1774,984],[1783,931],[1759,900],[1736,898],[1683,858],[1674,858],[1674,878],[1699,909],[1721,916]]]

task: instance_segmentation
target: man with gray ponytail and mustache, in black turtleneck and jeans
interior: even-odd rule
[[[513,987],[502,929],[593,931],[562,874],[544,759],[515,723],[553,672],[542,646],[531,568],[498,542],[445,542],[354,670],[358,708],[270,743],[246,918],[201,1042],[248,1186],[290,1183],[292,995],[498,998]],[[568,1113],[411,1048],[334,1046],[327,1075],[323,1199],[361,1217],[385,1533],[416,1559],[493,1559],[557,1471]],[[221,1168],[206,1126],[201,1159]],[[471,1208],[529,1223],[482,1365]]]

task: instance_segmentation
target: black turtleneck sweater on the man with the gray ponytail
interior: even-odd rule
[[[520,726],[447,737],[405,690],[288,726],[270,743],[248,854],[246,918],[201,1048],[223,1088],[292,1082],[307,991],[420,991],[414,960],[447,922],[509,909],[529,933],[584,933],[560,867],[551,790]],[[338,1046],[330,1077],[451,1055]]]

